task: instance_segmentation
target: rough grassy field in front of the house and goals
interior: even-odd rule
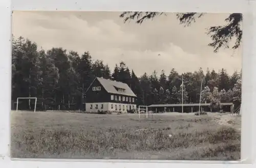
[[[224,118],[224,119],[223,119]],[[239,160],[241,117],[230,114],[11,112],[11,156]]]

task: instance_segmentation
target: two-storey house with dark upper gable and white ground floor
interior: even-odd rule
[[[127,84],[96,77],[86,90],[86,111],[136,110],[136,98]]]

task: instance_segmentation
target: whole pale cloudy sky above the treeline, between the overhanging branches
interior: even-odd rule
[[[123,22],[119,12],[13,12],[13,35],[38,44],[38,49],[63,47],[82,54],[89,51],[114,69],[124,61],[137,76],[144,72],[175,68],[179,73],[227,69],[229,74],[241,69],[242,50],[220,50],[215,54],[205,28],[225,24],[228,14],[207,14],[190,27],[179,24],[175,14],[160,16],[137,25]]]

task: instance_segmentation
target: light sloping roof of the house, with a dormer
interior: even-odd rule
[[[104,89],[109,93],[137,97],[136,94],[133,92],[133,90],[126,83],[112,81],[109,79],[98,78],[98,77],[96,77],[96,79],[104,87]],[[125,89],[125,92],[119,92],[118,90],[116,90],[115,87],[120,88],[120,89]]]

